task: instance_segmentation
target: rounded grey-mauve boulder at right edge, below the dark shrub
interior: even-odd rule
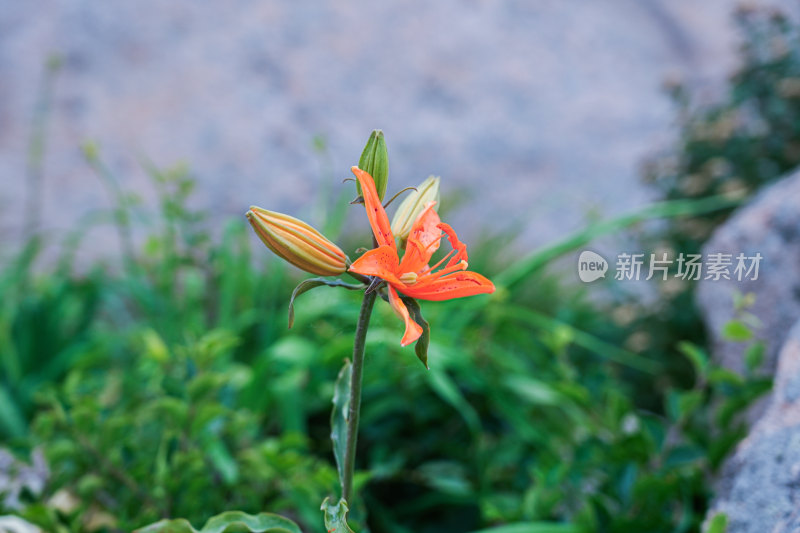
[[[755,303],[747,311],[761,326],[755,337],[766,345],[762,371],[773,375],[778,352],[789,329],[800,319],[800,173],[769,186],[717,228],[703,247],[712,253],[760,253],[758,279],[738,281],[703,280],[697,302],[712,340],[714,359],[743,373],[746,343],[732,343],[722,337],[725,324],[735,317],[734,295],[753,293]]]

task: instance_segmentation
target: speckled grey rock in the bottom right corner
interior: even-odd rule
[[[800,322],[778,358],[769,408],[731,458],[708,516],[726,533],[800,531]]]

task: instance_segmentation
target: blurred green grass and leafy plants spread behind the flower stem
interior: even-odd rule
[[[122,268],[76,272],[84,228],[54,265],[37,266],[34,238],[0,276],[0,434],[19,452],[41,447],[52,471],[22,513],[53,531],[129,531],[237,508],[316,530],[319,502],[336,491],[330,401],[358,295],[305,294],[287,330],[298,272],[251,249],[244,220],[211,238],[187,207],[185,168],[150,171],[155,212],[120,191],[113,216],[96,217],[121,237],[148,221]],[[674,345],[624,348],[631,331],[547,265],[654,216],[729,204],[662,204],[514,261],[507,240],[472,246],[471,267],[499,290],[424,303],[430,371],[400,348],[399,322],[378,306],[356,522],[391,533],[697,530],[707,476],[743,431],[720,425],[718,406],[745,404],[765,384],[715,381],[699,366],[687,382],[691,363],[675,364]],[[49,502],[63,491],[79,503],[59,511]]]

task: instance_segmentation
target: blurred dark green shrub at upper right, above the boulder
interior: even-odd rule
[[[800,29],[771,8],[743,7],[736,20],[744,44],[727,94],[696,106],[684,87],[672,88],[680,142],[646,173],[666,199],[741,198],[800,164]],[[694,252],[725,216],[686,217],[669,239]]]

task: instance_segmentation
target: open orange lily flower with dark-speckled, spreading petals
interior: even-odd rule
[[[422,327],[411,318],[397,291],[412,298],[437,301],[494,292],[491,281],[467,270],[467,245],[458,240],[453,228],[439,219],[433,209],[436,202],[429,202],[417,217],[408,235],[405,255],[400,260],[389,217],[375,190],[372,176],[358,167],[352,167],[351,170],[361,185],[367,218],[378,247],[365,252],[350,265],[349,270],[386,281],[389,303],[406,325],[400,341],[402,346],[416,341],[422,335]],[[429,266],[428,262],[445,234],[453,250],[441,261]],[[445,261],[447,263],[436,271]]]

